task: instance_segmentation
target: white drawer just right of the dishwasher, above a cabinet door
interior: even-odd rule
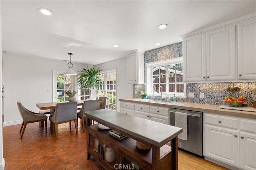
[[[238,119],[205,114],[204,123],[238,129]]]

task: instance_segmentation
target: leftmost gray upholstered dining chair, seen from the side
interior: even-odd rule
[[[45,132],[47,133],[47,118],[48,117],[45,114],[35,113],[35,112],[28,110],[21,104],[21,102],[17,102],[17,105],[18,105],[18,109],[20,111],[20,115],[23,119],[23,122],[22,122],[22,125],[20,128],[20,133],[22,131],[22,128],[23,128],[23,131],[22,131],[20,139],[22,139],[24,131],[25,131],[28,123],[45,121]],[[42,125],[42,128],[44,129],[43,125]]]

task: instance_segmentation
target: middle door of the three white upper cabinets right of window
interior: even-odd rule
[[[206,42],[207,80],[235,80],[235,25],[206,33]]]

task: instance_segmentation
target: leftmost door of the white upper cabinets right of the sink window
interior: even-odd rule
[[[183,40],[184,82],[206,80],[206,34]]]

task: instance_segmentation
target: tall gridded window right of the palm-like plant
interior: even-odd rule
[[[102,84],[98,87],[97,98],[107,96],[106,109],[116,110],[116,70],[102,72]]]

